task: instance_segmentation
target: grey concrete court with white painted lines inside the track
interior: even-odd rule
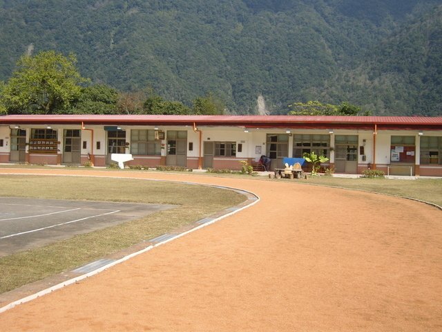
[[[0,197],[0,257],[173,207]]]

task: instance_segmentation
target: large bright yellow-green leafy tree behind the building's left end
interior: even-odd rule
[[[34,57],[23,55],[17,70],[6,82],[1,101],[9,113],[61,113],[70,108],[81,93],[81,77],[72,53],[65,57],[54,50]]]

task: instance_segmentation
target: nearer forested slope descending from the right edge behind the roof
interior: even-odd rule
[[[440,116],[441,50],[439,6],[383,40],[358,68],[341,72],[315,91],[324,100],[356,100],[378,114]]]

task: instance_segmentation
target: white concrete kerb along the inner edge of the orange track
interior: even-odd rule
[[[35,173],[26,173],[26,174],[19,174],[19,175],[36,175]],[[87,176],[87,175],[64,175],[64,174],[38,174],[38,175],[47,175],[47,176]],[[190,230],[187,230],[185,232],[182,232],[180,234],[176,234],[173,237],[169,237],[168,239],[165,239],[164,241],[160,241],[158,243],[155,243],[154,245],[148,246],[146,248],[143,248],[142,250],[138,250],[136,252],[133,252],[129,255],[126,255],[124,257],[122,257],[121,259],[117,259],[115,261],[111,261],[111,263],[106,264],[104,266],[101,266],[93,271],[90,271],[89,273],[85,273],[83,275],[79,275],[78,277],[72,278],[72,279],[68,279],[65,282],[61,282],[55,286],[52,286],[50,288],[46,288],[42,291],[39,291],[35,294],[29,295],[27,297],[23,297],[22,299],[18,299],[14,302],[10,302],[9,304],[6,304],[6,306],[3,306],[0,308],[0,313],[3,313],[5,311],[8,311],[9,309],[14,308],[15,306],[18,306],[19,304],[24,304],[26,302],[30,302],[33,299],[37,299],[38,297],[47,295],[52,293],[53,291],[57,291],[60,288],[64,288],[66,286],[75,284],[83,279],[86,279],[88,277],[92,277],[93,275],[97,275],[98,273],[101,273],[104,270],[107,270],[108,268],[111,268],[112,266],[115,266],[117,264],[120,264],[124,261],[127,261],[128,259],[131,259],[135,256],[141,255],[144,252],[148,252],[149,250],[152,250],[153,248],[156,248],[157,246],[162,246],[165,243],[168,243],[170,241],[173,241],[175,239],[178,239],[180,237],[184,237],[184,235],[189,234],[191,232],[195,232],[196,230],[200,230],[201,228],[204,228],[208,225],[211,225],[217,221],[220,221],[224,218],[227,218],[228,216],[231,216],[233,214],[236,214],[244,209],[250,208],[252,205],[255,205],[256,203],[258,203],[260,201],[260,197],[256,194],[254,194],[253,192],[249,192],[247,190],[242,190],[242,189],[238,189],[238,188],[233,188],[233,187],[227,187],[227,186],[221,186],[221,185],[208,185],[208,184],[204,184],[204,183],[193,183],[193,182],[188,182],[188,181],[176,181],[176,180],[160,180],[160,179],[151,179],[151,178],[133,178],[133,177],[123,177],[123,176],[88,176],[88,177],[97,177],[97,178],[128,178],[128,179],[136,179],[136,180],[146,180],[146,181],[161,181],[161,182],[177,182],[177,183],[184,183],[184,184],[189,184],[189,185],[202,185],[204,187],[216,187],[216,188],[220,188],[220,189],[224,189],[224,190],[233,190],[236,192],[240,192],[242,194],[244,194],[244,196],[247,197],[247,203],[244,205],[244,203],[241,203],[240,205],[237,205],[238,208],[235,210],[231,210],[230,212],[228,209],[227,210],[222,210],[226,213],[215,217],[213,220],[211,221],[207,221],[205,223],[202,223],[200,225],[198,225],[198,221],[196,221],[194,223],[194,225],[198,225],[195,226],[193,228],[191,228]],[[149,241],[149,240],[147,240]]]

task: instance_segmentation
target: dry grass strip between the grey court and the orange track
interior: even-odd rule
[[[1,175],[0,183],[1,196],[179,205],[143,219],[0,257],[0,293],[73,270],[245,200],[237,192],[219,188],[119,178]]]

